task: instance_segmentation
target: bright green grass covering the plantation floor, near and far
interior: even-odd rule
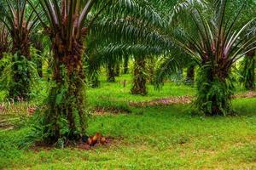
[[[117,83],[88,89],[90,105],[125,105],[179,95],[194,88],[167,83],[160,92],[148,87],[146,97],[129,94]],[[129,114],[90,119],[88,133],[114,137],[93,150],[19,149],[26,127],[0,131],[0,169],[256,169],[256,99],[235,99],[238,116],[191,116],[190,105],[131,107]],[[13,116],[13,115],[12,115]],[[3,116],[1,116],[3,118]]]

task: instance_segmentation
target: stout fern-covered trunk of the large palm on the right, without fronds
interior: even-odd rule
[[[197,80],[197,98],[195,106],[206,116],[226,116],[231,114],[231,96],[234,86],[230,77],[219,76],[218,68],[202,66]]]

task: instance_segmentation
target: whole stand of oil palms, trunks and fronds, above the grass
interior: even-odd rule
[[[38,77],[48,79],[35,130],[48,144],[86,134],[85,85],[99,86],[103,66],[114,82],[132,62],[131,94],[140,95],[186,68],[205,116],[234,113],[236,63],[244,87],[255,88],[253,0],[3,0],[0,8],[0,88],[24,101]]]

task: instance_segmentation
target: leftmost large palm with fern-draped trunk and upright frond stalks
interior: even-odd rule
[[[0,3],[0,20],[9,31],[12,40],[13,83],[9,87],[9,97],[28,99],[30,92],[31,72],[27,61],[31,59],[30,36],[38,25],[34,13],[27,8],[26,0],[3,0]]]

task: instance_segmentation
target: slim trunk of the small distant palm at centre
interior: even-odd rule
[[[131,94],[148,94],[146,88],[147,76],[145,75],[146,61],[143,57],[136,58],[133,71],[133,87]]]

